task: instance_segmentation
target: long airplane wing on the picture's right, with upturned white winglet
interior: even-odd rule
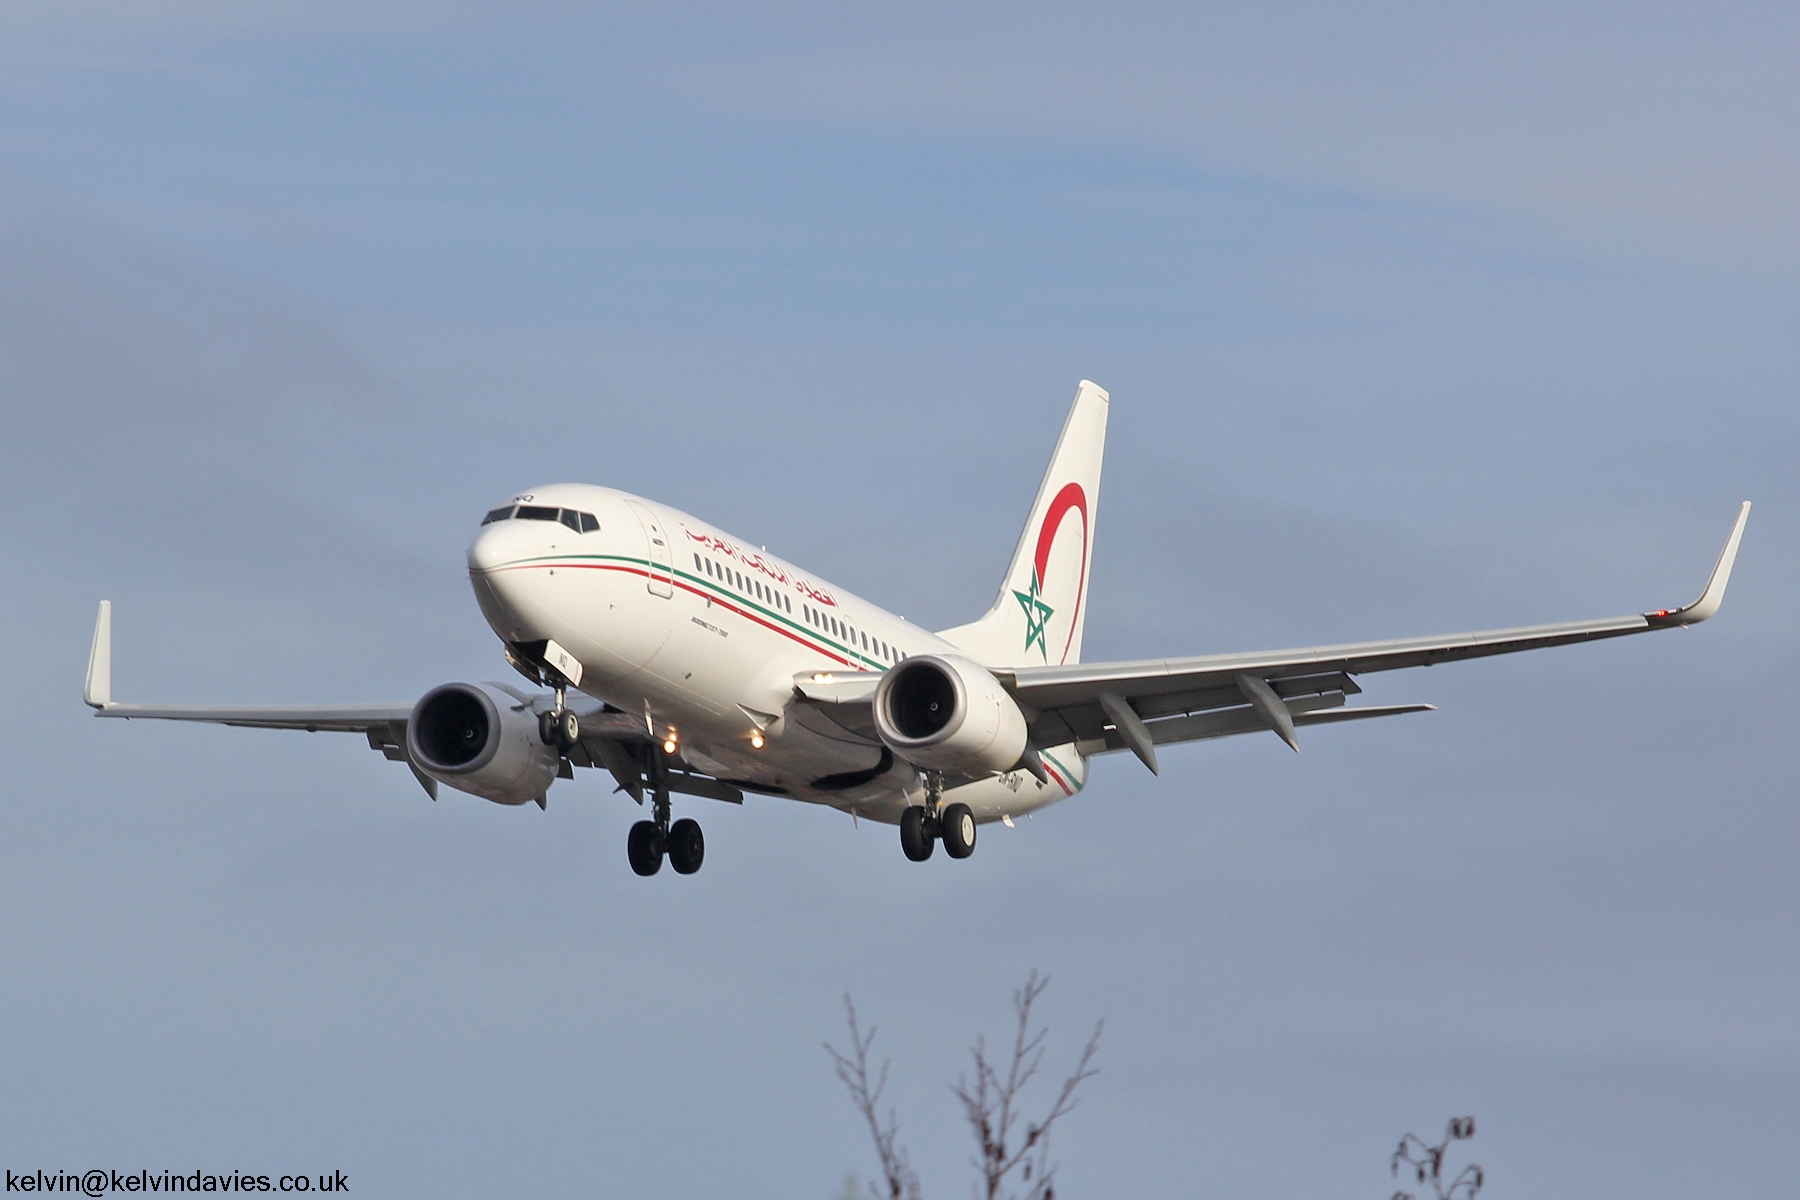
[[[1156,770],[1154,747],[1170,741],[1274,730],[1298,750],[1300,725],[1431,709],[1422,703],[1343,709],[1348,696],[1363,691],[1354,675],[1570,646],[1705,621],[1719,612],[1748,520],[1746,500],[1705,592],[1685,608],[1483,633],[1145,662],[1017,667],[995,675],[1028,709],[1028,716],[1035,714],[1031,741],[1039,747],[1075,741],[1084,754],[1129,748],[1150,770]]]

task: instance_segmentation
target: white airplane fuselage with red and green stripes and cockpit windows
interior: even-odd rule
[[[796,678],[886,671],[961,653],[936,633],[686,513],[612,488],[556,484],[518,504],[589,513],[482,525],[468,551],[481,610],[504,640],[553,639],[581,662],[580,691],[673,738],[697,770],[896,822],[923,792],[871,730],[796,700]],[[760,743],[760,745],[756,745]],[[1075,747],[1042,754],[1049,783],[1008,772],[954,788],[977,820],[1073,795]]]

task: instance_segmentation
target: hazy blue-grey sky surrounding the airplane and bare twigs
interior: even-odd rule
[[[931,1195],[1033,966],[1064,1195],[1766,1195],[1791,912],[1796,20],[1777,7],[14,5],[0,18],[0,1150],[367,1195],[835,1195],[853,991]],[[430,804],[130,700],[504,678],[461,554],[580,479],[979,612],[1078,378],[1089,657],[1690,599],[1096,765],[968,864],[598,781]],[[1723,1164],[1730,1164],[1724,1168]]]

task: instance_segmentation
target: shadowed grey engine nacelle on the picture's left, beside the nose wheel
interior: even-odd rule
[[[412,705],[407,754],[437,783],[495,804],[544,795],[562,754],[538,738],[538,718],[484,684],[445,684]]]

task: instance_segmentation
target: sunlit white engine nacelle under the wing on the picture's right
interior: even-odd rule
[[[1026,720],[979,662],[920,655],[889,667],[875,687],[875,729],[914,766],[994,775],[1019,765]]]

